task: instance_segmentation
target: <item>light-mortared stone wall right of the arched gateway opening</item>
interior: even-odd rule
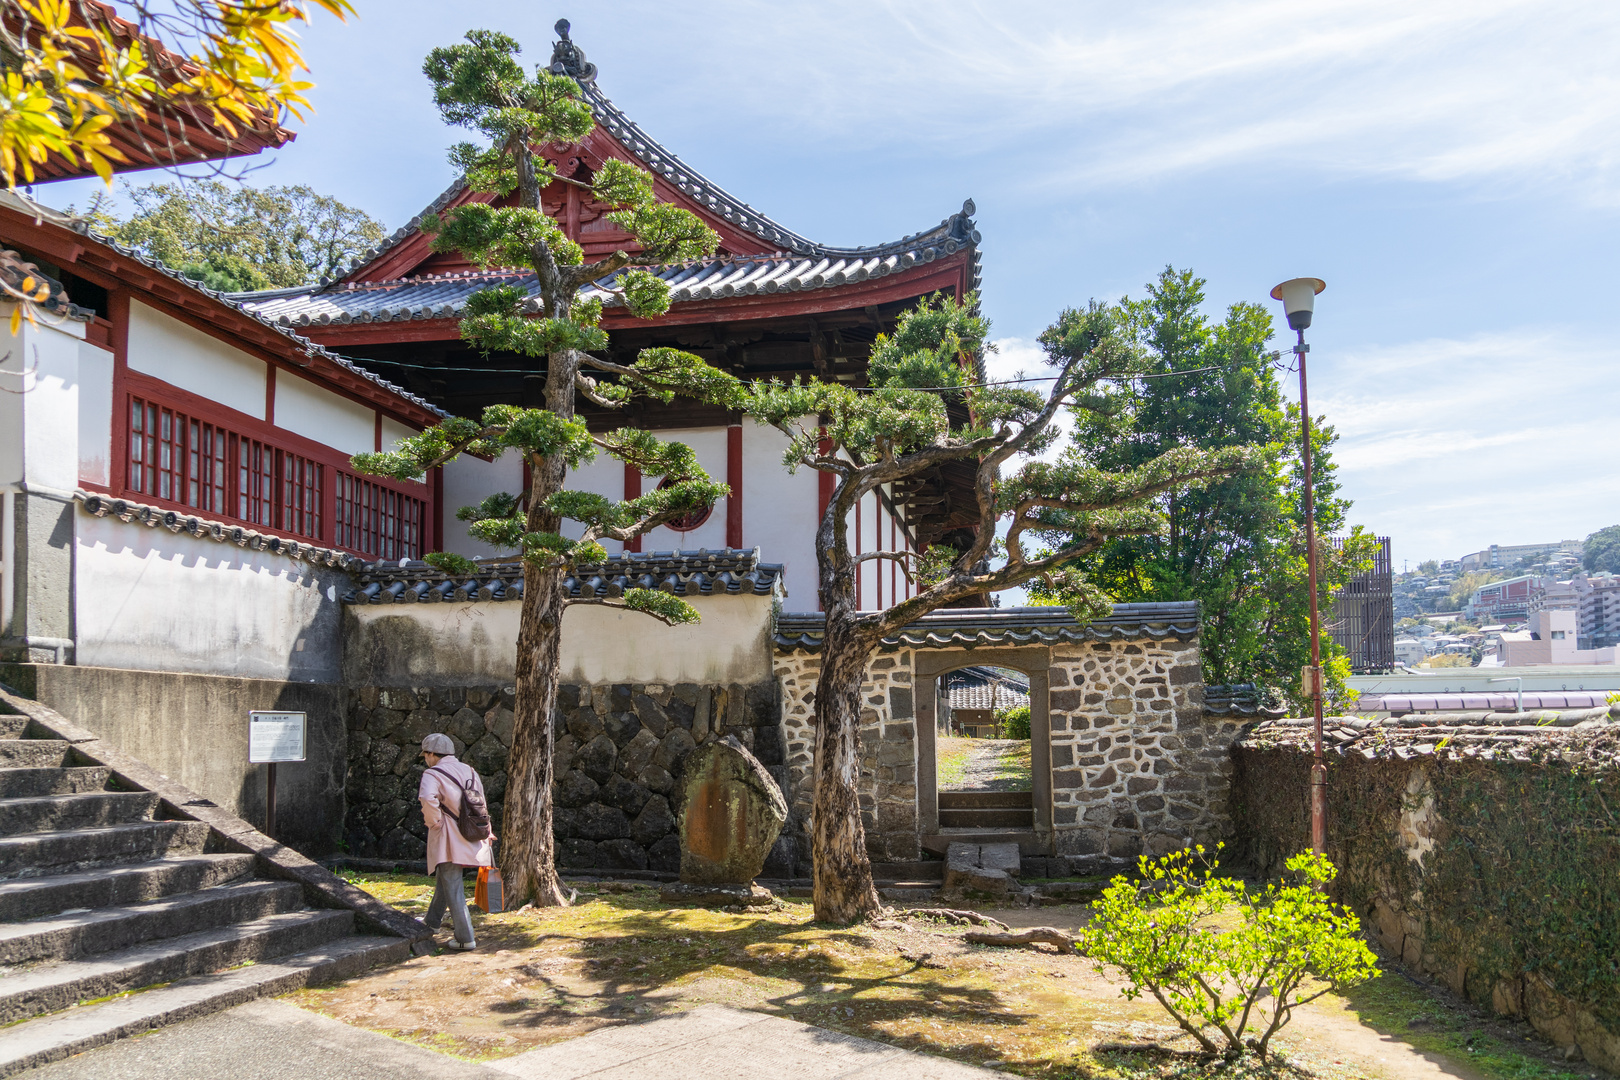
[[[1196,641],[1063,644],[1048,677],[1058,855],[1129,858],[1231,832],[1241,724],[1204,714]]]

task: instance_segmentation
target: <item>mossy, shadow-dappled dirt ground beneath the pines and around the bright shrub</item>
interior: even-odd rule
[[[407,912],[431,897],[428,878],[348,876]],[[1085,908],[996,916],[1072,928]],[[572,908],[475,912],[475,926],[476,952],[413,959],[292,999],[470,1059],[716,1002],[1053,1080],[1592,1075],[1400,975],[1311,1006],[1281,1038],[1281,1061],[1228,1064],[1187,1052],[1157,1004],[1124,1001],[1084,957],[970,946],[961,928],[927,920],[838,928],[815,923],[808,902],[729,915],[604,882],[582,887]]]

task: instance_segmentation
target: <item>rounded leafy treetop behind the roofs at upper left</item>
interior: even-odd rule
[[[188,180],[128,188],[134,215],[89,217],[113,240],[175,267],[209,288],[245,293],[326,280],[386,235],[382,222],[308,185],[253,188]]]

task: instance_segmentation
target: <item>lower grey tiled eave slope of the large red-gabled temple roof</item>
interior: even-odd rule
[[[724,256],[654,267],[653,272],[669,282],[671,303],[797,293],[888,277],[954,254],[967,244],[969,241],[951,235],[951,228],[943,228],[940,235],[930,233],[927,243],[914,249],[888,254]],[[601,300],[609,308],[622,303],[611,291],[617,277],[614,274],[585,285],[580,296]],[[352,282],[337,288],[241,293],[238,300],[245,309],[280,327],[410,322],[458,317],[467,298],[491,285],[518,285],[530,296],[539,293],[539,282],[531,270],[463,270],[395,282]]]

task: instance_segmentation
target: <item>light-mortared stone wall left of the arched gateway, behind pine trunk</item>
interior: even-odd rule
[[[789,819],[784,836],[808,858],[810,803],[815,798],[815,683],[821,657],[778,653],[776,678],[782,696]],[[912,693],[912,653],[878,653],[860,687],[860,816],[867,853],[873,861],[920,858],[917,836],[917,721]],[[808,874],[808,863],[800,865]]]

